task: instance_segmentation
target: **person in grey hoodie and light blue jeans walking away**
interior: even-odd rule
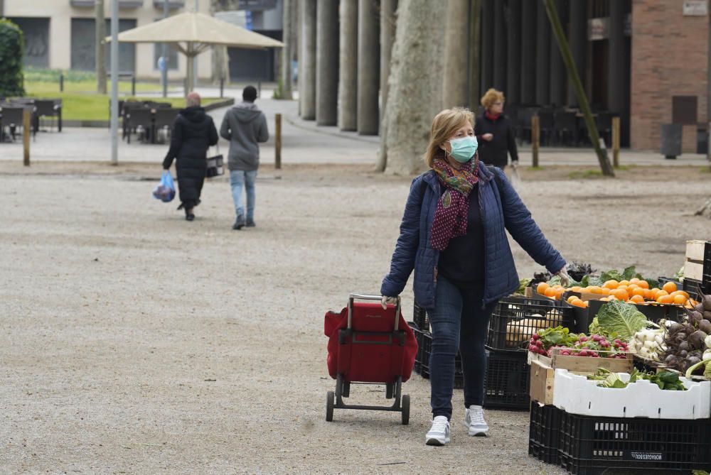
[[[255,180],[260,166],[260,146],[269,138],[267,118],[255,104],[257,89],[247,86],[242,91],[242,102],[232,107],[220,126],[220,136],[230,141],[228,168],[232,200],[237,219],[232,229],[255,226]],[[247,214],[242,202],[242,187],[247,191]]]

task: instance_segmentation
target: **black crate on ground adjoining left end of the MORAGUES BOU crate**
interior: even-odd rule
[[[558,439],[562,410],[555,405],[530,402],[528,454],[547,464],[558,463]]]

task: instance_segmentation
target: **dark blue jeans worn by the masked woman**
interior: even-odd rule
[[[496,302],[482,307],[483,285],[459,288],[442,275],[437,277],[432,323],[429,381],[432,415],[451,418],[454,392],[454,357],[459,349],[464,371],[464,405],[482,405],[486,376],[486,333]]]

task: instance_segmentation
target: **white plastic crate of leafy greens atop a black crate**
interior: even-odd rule
[[[623,381],[628,373],[618,373]],[[687,391],[663,391],[651,381],[626,388],[601,388],[600,381],[555,370],[553,405],[567,413],[602,417],[650,419],[706,419],[711,415],[711,381],[681,378]]]

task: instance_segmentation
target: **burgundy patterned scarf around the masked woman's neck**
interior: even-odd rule
[[[472,170],[472,162],[474,162],[474,170]],[[469,193],[479,181],[476,175],[478,168],[479,160],[476,156],[474,160],[464,163],[459,170],[449,165],[444,155],[434,158],[432,170],[437,173],[439,182],[446,188],[437,202],[437,210],[432,221],[430,243],[434,249],[444,251],[447,249],[449,239],[466,234]]]

